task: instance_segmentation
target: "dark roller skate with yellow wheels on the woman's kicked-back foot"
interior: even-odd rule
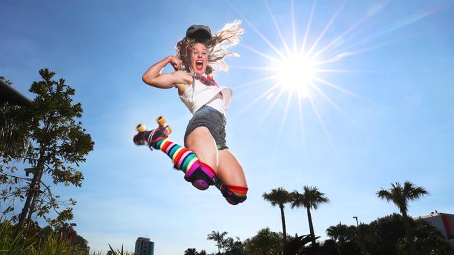
[[[136,126],[137,134],[133,137],[133,142],[136,145],[147,145],[150,150],[156,148],[156,143],[162,139],[166,139],[170,133],[172,133],[172,128],[170,125],[166,125],[166,119],[163,116],[158,116],[156,118],[156,123],[158,127],[154,130],[146,130],[144,124],[140,123]]]

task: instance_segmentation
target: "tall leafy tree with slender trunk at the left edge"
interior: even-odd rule
[[[33,215],[43,217],[52,225],[73,218],[71,206],[75,201],[61,200],[59,195],[53,194],[51,185],[43,182],[43,176],[49,175],[54,185],[80,187],[83,175],[75,167],[85,162],[94,146],[91,136],[78,121],[82,117],[82,105],[73,103],[75,90],[65,84],[64,79],[52,79],[55,73],[50,70],[40,70],[39,74],[42,80],[31,84],[29,89],[36,97],[31,107],[18,110],[20,119],[15,123],[21,132],[27,133],[29,148],[22,155],[11,155],[14,160],[23,160],[31,166],[33,178],[23,178],[26,185],[0,194],[3,201],[19,198],[24,202],[21,212],[11,217],[20,228],[30,224]],[[57,213],[55,219],[47,216],[51,210]]]

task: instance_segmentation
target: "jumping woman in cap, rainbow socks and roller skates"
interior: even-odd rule
[[[193,25],[177,42],[176,56],[155,63],[142,76],[143,82],[155,88],[177,88],[180,99],[193,117],[186,127],[184,146],[168,139],[168,126],[138,132],[137,145],[162,150],[174,167],[184,172],[184,179],[198,190],[214,185],[228,203],[246,200],[247,183],[240,162],[226,144],[226,111],[232,99],[230,88],[214,82],[214,70],[228,70],[226,56],[235,55],[227,48],[236,45],[244,30],[241,21],[228,23],[215,35],[208,26]],[[166,65],[175,72],[161,73]]]

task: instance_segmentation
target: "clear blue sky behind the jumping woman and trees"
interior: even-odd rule
[[[206,240],[212,231],[241,240],[266,226],[281,231],[279,208],[261,197],[277,187],[325,192],[330,203],[312,213],[322,239],[330,225],[354,224],[353,216],[370,222],[397,212],[375,195],[396,181],[430,192],[410,204],[410,215],[453,213],[453,2],[343,4],[316,1],[305,49],[317,42],[318,52],[336,40],[318,56],[333,60],[321,68],[349,72],[317,74],[337,86],[314,82],[331,101],[312,88],[310,99],[293,93],[288,102],[288,89],[278,98],[281,86],[265,93],[276,80],[256,81],[273,74],[263,70],[272,65],[266,56],[286,52],[279,32],[290,47],[302,44],[312,1],[270,1],[271,15],[263,1],[2,1],[0,75],[32,98],[38,70],[50,68],[82,103],[82,123],[96,145],[80,167],[82,187],[56,189],[78,201],[73,222],[89,246],[133,250],[136,238],[147,236],[155,254],[214,252]],[[142,73],[175,54],[191,24],[217,31],[235,19],[246,31],[232,48],[240,58],[228,59],[230,71],[216,79],[234,91],[228,146],[249,185],[240,206],[216,189],[194,189],[163,153],[131,141],[137,123],[153,127],[163,114],[171,139],[182,144],[191,114],[175,89],[149,87]],[[287,233],[309,233],[305,210],[285,212]]]

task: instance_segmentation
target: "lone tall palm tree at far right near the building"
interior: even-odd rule
[[[415,186],[409,181],[404,182],[404,186],[400,183],[391,183],[391,188],[385,190],[381,188],[376,192],[376,196],[380,199],[386,199],[386,201],[392,201],[402,213],[402,219],[404,222],[404,231],[407,235],[407,240],[409,242],[409,252],[411,255],[416,255],[416,246],[413,240],[413,233],[410,227],[409,216],[407,215],[408,203],[409,201],[418,200],[422,196],[429,194],[424,187]]]

